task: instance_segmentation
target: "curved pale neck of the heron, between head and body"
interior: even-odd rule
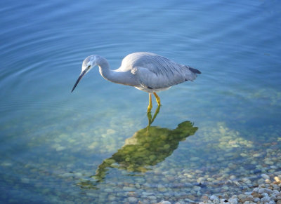
[[[104,57],[100,57],[97,64],[100,75],[103,76],[104,79],[112,81],[113,83],[137,86],[136,80],[134,79],[135,76],[133,76],[131,72],[119,72],[118,69],[110,69],[110,64]]]

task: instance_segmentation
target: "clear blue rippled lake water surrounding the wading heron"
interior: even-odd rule
[[[280,171],[280,11],[271,0],[1,1],[0,201],[186,202]],[[117,69],[138,51],[202,72],[159,93],[151,138],[147,93],[98,69],[70,93],[88,55]],[[231,175],[251,184],[226,185]]]

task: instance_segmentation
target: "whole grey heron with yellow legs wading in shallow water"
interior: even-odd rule
[[[201,74],[197,69],[178,64],[154,53],[131,53],[124,57],[121,67],[115,70],[110,69],[110,64],[104,57],[90,55],[86,57],[82,64],[81,74],[72,91],[82,77],[96,66],[99,67],[100,75],[104,79],[113,83],[133,86],[149,93],[148,112],[152,109],[152,93],[155,95],[158,106],[160,106],[160,97],[156,92],[171,88],[178,83],[193,81],[197,74]]]

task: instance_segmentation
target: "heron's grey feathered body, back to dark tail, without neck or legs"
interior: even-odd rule
[[[132,53],[122,61],[119,69],[129,71],[138,82],[137,88],[161,90],[184,81],[193,81],[200,71],[153,53]],[[148,90],[148,92],[150,92]]]

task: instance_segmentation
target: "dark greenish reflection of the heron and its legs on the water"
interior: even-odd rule
[[[179,142],[190,135],[194,135],[197,127],[193,127],[190,121],[178,124],[176,129],[150,126],[159,113],[156,109],[152,117],[148,114],[148,127],[138,130],[125,140],[124,146],[110,158],[106,158],[98,166],[93,178],[97,182],[103,181],[110,168],[126,170],[128,172],[146,172],[153,165],[157,165],[170,156],[178,148]]]

